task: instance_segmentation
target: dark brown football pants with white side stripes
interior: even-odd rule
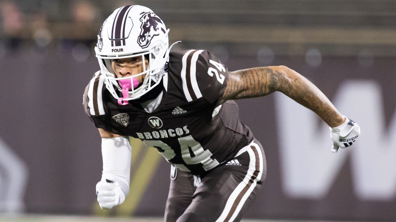
[[[171,167],[165,222],[240,221],[267,174],[265,154],[258,141],[203,177]]]

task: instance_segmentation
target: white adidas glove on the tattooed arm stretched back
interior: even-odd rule
[[[337,152],[338,148],[349,147],[360,135],[360,126],[353,120],[346,118],[345,122],[337,127],[330,127],[330,137],[333,140],[331,152]]]

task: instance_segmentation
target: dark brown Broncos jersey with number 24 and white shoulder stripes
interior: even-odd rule
[[[134,102],[119,105],[99,71],[86,87],[85,112],[96,127],[139,138],[179,169],[205,174],[232,160],[253,135],[234,101],[217,105],[228,81],[217,57],[205,50],[172,52],[168,68],[161,103],[152,113]]]

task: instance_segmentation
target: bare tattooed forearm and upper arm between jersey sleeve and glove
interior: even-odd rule
[[[269,66],[230,72],[219,101],[265,96],[280,91],[314,111],[329,126],[338,126],[343,116],[314,84],[285,66]]]

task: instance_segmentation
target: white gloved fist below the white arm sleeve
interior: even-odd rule
[[[102,209],[111,209],[125,200],[125,194],[118,182],[108,179],[102,179],[96,184],[96,197]]]

